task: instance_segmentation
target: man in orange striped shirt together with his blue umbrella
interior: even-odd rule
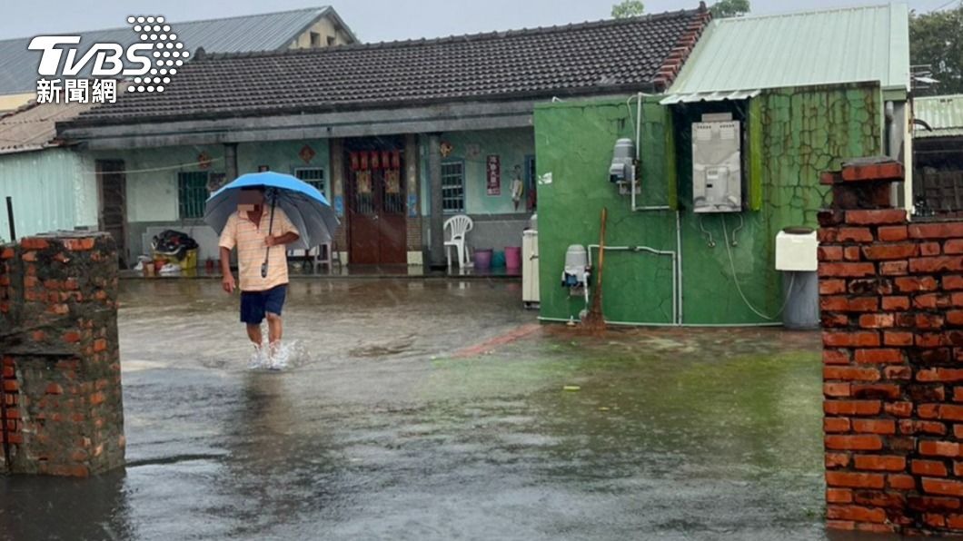
[[[273,171],[247,173],[211,194],[204,221],[221,234],[222,285],[235,289],[231,249],[238,249],[241,322],[261,355],[261,322],[268,320],[271,368],[280,368],[281,308],[288,284],[286,245],[308,249],[330,243],[338,219],[325,195],[299,179]]]

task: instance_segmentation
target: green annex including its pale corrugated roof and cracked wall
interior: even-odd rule
[[[598,244],[604,207],[607,245],[645,246],[606,253],[608,321],[781,321],[776,234],[818,225],[830,196],[820,171],[852,157],[909,161],[908,90],[908,11],[895,4],[715,20],[664,95],[539,105],[542,320],[578,319],[586,308],[560,278],[569,245]],[[735,212],[698,212],[693,196],[692,126],[712,120],[738,122]],[[610,182],[622,138],[638,144],[635,209]]]

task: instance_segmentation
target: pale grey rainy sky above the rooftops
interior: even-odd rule
[[[613,0],[329,0],[363,41],[436,38],[492,30],[551,26],[608,18]],[[752,13],[863,6],[887,0],[751,0]],[[918,12],[961,0],[909,0]],[[711,2],[708,2],[711,4]],[[0,39],[123,26],[129,14],[164,15],[171,22],[325,5],[325,0],[5,0]],[[646,13],[694,8],[697,0],[645,0]]]

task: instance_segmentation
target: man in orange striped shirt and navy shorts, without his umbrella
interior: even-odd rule
[[[261,322],[268,320],[269,358],[281,341],[281,308],[288,286],[287,250],[284,245],[299,239],[298,229],[282,209],[264,208],[263,187],[249,187],[238,194],[238,211],[227,219],[221,231],[221,286],[234,293],[231,249],[238,249],[238,277],[241,282],[241,322],[247,323],[247,337],[260,350]],[[273,248],[273,249],[272,249]],[[264,264],[264,265],[262,265]],[[262,272],[262,267],[267,272]]]

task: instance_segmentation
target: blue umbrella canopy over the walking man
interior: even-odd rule
[[[266,189],[265,206],[271,203],[284,210],[291,223],[298,228],[298,242],[292,248],[307,249],[329,243],[338,227],[338,218],[325,195],[289,174],[273,171],[247,173],[212,193],[204,204],[204,221],[218,234],[227,219],[238,210],[238,194],[242,188],[263,186]],[[266,212],[270,212],[267,208]]]

